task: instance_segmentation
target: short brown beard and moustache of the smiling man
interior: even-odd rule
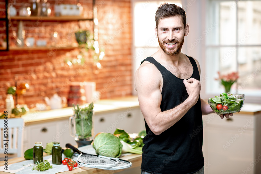
[[[158,42],[159,42],[159,46],[164,51],[164,53],[166,53],[167,55],[170,55],[170,56],[176,56],[180,52],[180,49],[184,43],[184,38],[185,38],[185,34],[180,42],[178,40],[169,41],[169,39],[167,39],[167,41],[165,41],[165,40],[162,41],[162,43],[164,43],[164,44],[165,43],[177,43],[176,49],[175,49],[175,47],[167,48],[166,46],[163,46],[163,44],[159,41],[159,36],[158,36]]]

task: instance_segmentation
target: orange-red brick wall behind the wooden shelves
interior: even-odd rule
[[[61,0],[62,1],[62,0]],[[22,2],[16,1],[16,9]],[[48,1],[53,4],[55,1]],[[60,1],[59,1],[60,2]],[[73,4],[78,1],[66,1],[61,3]],[[92,1],[83,1],[84,14],[92,17],[90,10]],[[33,106],[35,103],[45,103],[44,96],[51,97],[54,93],[60,96],[68,96],[69,83],[71,81],[95,81],[96,89],[102,93],[101,98],[120,97],[131,95],[132,91],[132,59],[131,59],[131,2],[121,0],[97,0],[98,12],[98,41],[105,50],[105,56],[100,61],[102,69],[95,74],[97,69],[93,65],[92,50],[85,52],[86,62],[84,65],[71,65],[66,59],[73,59],[81,49],[52,49],[34,51],[8,51],[0,52],[0,112],[4,110],[5,96],[8,86],[14,85],[15,76],[17,83],[26,82],[30,89],[25,95],[18,97],[19,104]],[[3,3],[0,8],[3,8]],[[1,10],[3,11],[3,10]],[[1,13],[1,12],[0,12]],[[54,10],[52,14],[54,15]],[[18,21],[11,21],[10,45],[15,46],[13,31],[18,30]],[[92,21],[53,22],[42,21],[34,26],[35,21],[24,21],[27,37],[47,40],[50,45],[54,42],[52,34],[59,33],[58,47],[64,43],[76,43],[75,29],[89,29],[92,31]],[[1,24],[0,24],[1,25]],[[1,34],[2,33],[2,34]],[[72,37],[68,35],[72,33]],[[3,32],[0,31],[1,36]]]

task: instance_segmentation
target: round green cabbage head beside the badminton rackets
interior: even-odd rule
[[[104,132],[95,137],[93,148],[97,155],[117,158],[121,155],[122,143],[118,137]]]

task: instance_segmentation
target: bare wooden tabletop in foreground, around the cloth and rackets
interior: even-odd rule
[[[65,172],[60,172],[61,174],[74,174],[74,173],[79,173],[79,174],[91,174],[91,173],[97,173],[97,174],[111,174],[111,173],[117,173],[120,171],[124,170],[129,170],[134,167],[139,167],[141,166],[141,155],[138,154],[131,154],[127,156],[123,156],[120,159],[131,161],[132,166],[126,169],[121,169],[121,170],[102,170],[102,169],[96,169],[96,168],[89,168],[89,167],[80,167],[73,169],[72,171],[65,171]],[[13,158],[13,159],[8,159],[8,165],[13,164],[13,163],[19,163],[21,161],[24,161],[24,157],[19,157],[19,158]],[[4,165],[4,161],[0,162],[0,166]],[[9,167],[9,166],[8,166]],[[3,172],[0,171],[0,173],[8,173],[8,172]],[[39,172],[37,172],[39,173]]]

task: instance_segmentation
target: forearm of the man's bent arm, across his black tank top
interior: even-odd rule
[[[156,135],[161,134],[177,123],[192,106],[194,106],[193,102],[186,99],[173,109],[159,112],[155,117],[154,125],[151,125],[152,132]]]

